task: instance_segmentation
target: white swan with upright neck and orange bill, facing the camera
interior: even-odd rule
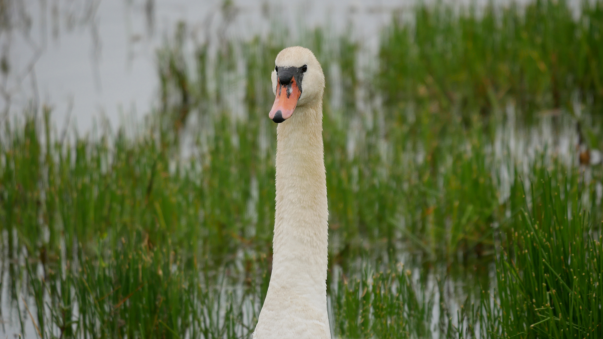
[[[268,114],[279,124],[273,268],[253,338],[330,338],[323,69],[300,46],[280,51],[275,64]]]

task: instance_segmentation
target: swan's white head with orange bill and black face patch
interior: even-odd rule
[[[308,48],[293,46],[276,55],[272,90],[276,98],[268,117],[279,124],[291,118],[295,107],[321,102],[323,68]]]

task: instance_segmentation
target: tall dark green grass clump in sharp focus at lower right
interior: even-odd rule
[[[496,262],[505,337],[601,336],[600,214],[582,205],[576,179],[544,172],[524,193],[531,203]]]

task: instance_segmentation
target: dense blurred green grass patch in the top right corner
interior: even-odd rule
[[[429,100],[463,113],[490,113],[504,98],[528,118],[571,110],[576,95],[601,107],[603,7],[582,1],[578,11],[547,0],[418,5],[385,30],[380,88],[390,104]]]

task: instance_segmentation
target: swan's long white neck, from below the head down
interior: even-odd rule
[[[256,339],[330,338],[322,103],[277,127],[273,268]]]

